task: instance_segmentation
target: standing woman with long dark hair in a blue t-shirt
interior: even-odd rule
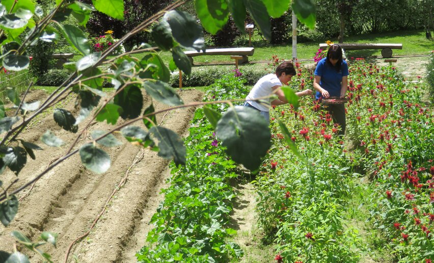
[[[342,48],[338,44],[329,47],[327,57],[318,62],[315,69],[313,88],[316,99],[345,97],[348,81],[348,64],[342,59]],[[331,104],[328,108],[333,122],[341,126],[338,135],[345,133],[345,106]]]

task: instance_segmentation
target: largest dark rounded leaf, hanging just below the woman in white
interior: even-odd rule
[[[249,170],[261,165],[261,157],[271,146],[267,121],[258,111],[243,106],[229,109],[217,123],[215,133],[232,159]]]

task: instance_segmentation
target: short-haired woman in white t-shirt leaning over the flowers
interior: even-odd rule
[[[280,87],[283,84],[288,85],[292,76],[296,74],[294,65],[291,62],[285,61],[276,68],[276,73],[267,74],[259,79],[259,81],[253,86],[249,95],[246,97],[244,106],[253,108],[260,111],[261,115],[269,122],[269,107],[278,106],[288,103],[285,98],[285,94]],[[272,93],[277,95],[277,99],[269,99],[270,105],[266,105],[263,102],[260,103],[254,99],[262,98],[271,95]],[[312,90],[306,89],[295,93],[297,96],[305,96],[312,94]]]

